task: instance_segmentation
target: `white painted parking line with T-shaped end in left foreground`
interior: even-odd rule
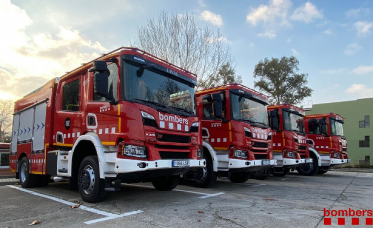
[[[26,192],[26,193],[37,195],[37,196],[44,197],[44,198],[47,198],[47,199],[51,199],[51,200],[54,200],[54,201],[57,201],[57,202],[60,202],[60,203],[63,203],[63,204],[69,205],[69,206],[76,205],[76,203],[72,203],[72,202],[57,198],[57,197],[50,196],[50,195],[44,195],[44,194],[36,193],[36,192],[31,191],[31,190],[22,189],[22,188],[14,186],[14,185],[7,185],[7,186],[10,187],[10,188],[13,188],[13,189],[17,189],[17,190]],[[134,214],[138,214],[138,213],[143,212],[141,210],[137,210],[137,211],[131,211],[131,212],[127,212],[127,213],[118,215],[118,214],[112,214],[112,213],[109,213],[109,212],[101,211],[101,210],[98,210],[98,209],[95,209],[95,208],[86,207],[86,206],[83,206],[83,205],[80,205],[79,209],[89,211],[89,212],[92,212],[92,213],[95,213],[95,214],[106,216],[105,218],[95,219],[95,220],[84,222],[85,224],[98,223],[98,222],[109,220],[109,219],[116,219],[116,218],[125,217],[125,216],[134,215]]]

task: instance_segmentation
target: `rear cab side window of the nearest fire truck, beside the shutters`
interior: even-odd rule
[[[79,111],[79,79],[64,85],[62,110]]]

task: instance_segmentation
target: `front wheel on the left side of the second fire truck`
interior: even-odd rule
[[[209,157],[203,156],[206,160],[206,167],[196,171],[197,177],[193,185],[198,188],[208,188],[216,182],[217,173],[214,172],[212,161]]]

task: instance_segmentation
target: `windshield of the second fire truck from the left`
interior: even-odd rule
[[[268,125],[267,106],[263,103],[231,93],[231,109],[234,120]]]

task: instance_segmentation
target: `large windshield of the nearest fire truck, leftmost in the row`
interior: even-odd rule
[[[129,60],[124,63],[126,99],[157,104],[181,111],[183,115],[196,115],[194,85],[154,67],[143,68],[142,64]]]

